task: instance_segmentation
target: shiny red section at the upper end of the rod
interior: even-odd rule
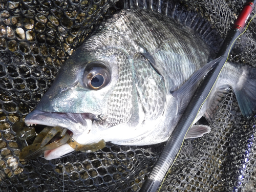
[[[255,1],[254,1],[255,2]],[[244,8],[242,9],[241,13],[239,14],[236,22],[233,25],[233,29],[239,29],[240,32],[243,30],[247,19],[249,18],[255,3],[247,2]]]

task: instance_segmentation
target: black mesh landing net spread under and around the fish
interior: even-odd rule
[[[94,153],[20,160],[12,124],[24,120],[62,63],[103,19],[122,8],[150,8],[197,30],[218,51],[245,1],[1,1],[0,191],[138,191],[163,145],[107,143]],[[255,13],[255,11],[254,11]],[[214,26],[212,29],[210,26]],[[255,66],[256,22],[230,60]],[[255,191],[256,118],[247,122],[230,89],[210,124],[188,139],[161,191]]]

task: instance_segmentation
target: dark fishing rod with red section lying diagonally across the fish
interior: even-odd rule
[[[140,192],[155,192],[161,184],[163,178],[167,176],[166,172],[168,172],[168,170],[172,168],[181,150],[181,146],[184,142],[189,128],[191,127],[191,125],[194,124],[194,121],[201,109],[201,106],[203,105],[204,101],[207,99],[212,88],[214,87],[220,75],[220,72],[228,59],[228,55],[233,48],[234,42],[241,35],[242,30],[254,8],[255,3],[256,0],[248,1],[242,9],[232,29],[229,31],[225,41],[223,42],[220,51],[217,54],[217,58],[219,59],[215,59],[214,62],[217,62],[215,64],[215,67],[208,72],[208,74],[200,83],[200,86],[198,87],[193,98],[187,105],[185,112],[183,113],[172,135],[169,137],[166,145],[164,146],[164,149],[155,166],[153,167],[150,175],[148,175],[148,178],[143,183]]]

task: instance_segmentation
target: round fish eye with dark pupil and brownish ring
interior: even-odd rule
[[[84,70],[84,86],[91,90],[99,90],[109,84],[111,75],[109,69],[101,62],[92,62]]]

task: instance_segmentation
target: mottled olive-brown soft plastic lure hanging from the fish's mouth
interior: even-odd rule
[[[13,130],[16,132],[19,141],[25,141],[28,145],[26,140],[36,137],[32,144],[23,148],[19,154],[19,159],[35,159],[44,151],[54,150],[54,148],[66,143],[74,148],[75,151],[94,152],[105,147],[103,139],[98,143],[79,144],[67,133],[67,129],[62,129],[59,126],[47,126],[38,135],[36,135],[34,127],[24,126],[24,122],[17,122],[13,125]]]

